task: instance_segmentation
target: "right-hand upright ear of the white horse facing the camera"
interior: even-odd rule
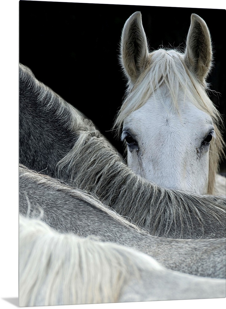
[[[185,63],[205,83],[212,65],[212,45],[210,32],[205,21],[196,14],[191,15],[191,25],[187,35]]]

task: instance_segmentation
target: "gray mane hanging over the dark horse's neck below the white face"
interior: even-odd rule
[[[57,178],[97,195],[151,235],[172,238],[225,235],[224,198],[150,184],[125,166],[102,136],[80,134],[78,144],[57,164],[57,170]]]

